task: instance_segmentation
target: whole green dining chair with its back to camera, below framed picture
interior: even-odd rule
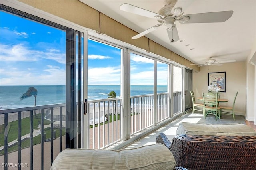
[[[204,101],[204,119],[208,114],[215,115],[215,120],[217,121],[217,117],[220,119],[221,108],[218,106],[218,93],[210,95],[209,93],[203,94]]]

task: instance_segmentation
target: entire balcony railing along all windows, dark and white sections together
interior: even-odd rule
[[[174,93],[174,113],[181,112],[181,91]],[[153,95],[132,96],[131,135],[154,124]],[[168,93],[157,94],[157,123],[170,118]],[[122,98],[88,101],[87,148],[106,148],[122,140]],[[0,110],[0,162],[4,169],[18,165],[50,169],[66,148],[65,104]],[[2,164],[1,164],[2,165]]]

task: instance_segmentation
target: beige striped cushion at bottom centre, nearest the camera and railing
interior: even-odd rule
[[[173,170],[172,152],[164,144],[153,144],[123,150],[65,149],[51,170]]]

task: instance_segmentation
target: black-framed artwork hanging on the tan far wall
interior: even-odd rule
[[[220,92],[226,92],[226,71],[208,73],[208,86],[214,85],[220,87]]]

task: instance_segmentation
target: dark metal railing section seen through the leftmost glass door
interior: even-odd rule
[[[65,148],[65,111],[65,104],[1,110],[0,162],[4,169],[33,169],[33,165],[50,169]]]

